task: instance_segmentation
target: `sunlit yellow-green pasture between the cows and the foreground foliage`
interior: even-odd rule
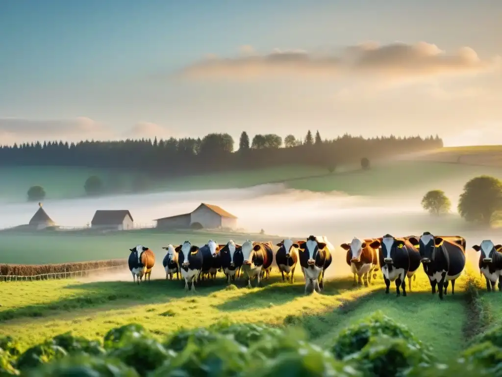
[[[322,345],[348,324],[382,310],[407,325],[443,357],[454,356],[464,344],[465,277],[458,280],[456,295],[448,295],[441,303],[430,293],[423,271],[417,275],[413,292],[399,298],[394,285],[389,295],[384,293],[381,272],[368,288],[353,288],[351,277],[328,280],[320,295],[304,295],[304,280],[298,269],[293,285],[283,283],[274,270],[260,288],[245,288],[243,280],[227,286],[218,277],[188,294],[184,282],[165,279],[140,286],[132,280],[4,282],[0,283],[0,334],[15,335],[28,347],[66,331],[92,339],[102,337],[112,327],[137,322],[163,337],[182,327],[207,326],[228,318],[299,325]]]

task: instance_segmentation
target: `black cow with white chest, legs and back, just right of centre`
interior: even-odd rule
[[[309,236],[306,241],[296,242],[299,248],[300,266],[305,277],[305,293],[313,286],[320,293],[324,289],[324,273],[331,265],[333,245],[324,236]]]

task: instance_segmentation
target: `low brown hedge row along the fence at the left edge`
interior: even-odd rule
[[[35,276],[47,273],[65,273],[105,267],[127,266],[127,264],[127,259],[110,259],[59,264],[0,264],[0,275]]]

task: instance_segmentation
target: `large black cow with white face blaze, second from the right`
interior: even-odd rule
[[[462,247],[465,240],[450,240],[435,237],[430,232],[424,232],[417,240],[415,237],[408,239],[420,252],[424,271],[429,277],[432,294],[436,293],[443,300],[443,290],[446,295],[448,282],[451,281],[451,293],[455,294],[455,280],[465,268],[465,249]]]

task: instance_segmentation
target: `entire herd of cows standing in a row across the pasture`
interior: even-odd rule
[[[333,245],[326,237],[309,236],[306,240],[293,241],[284,239],[277,244],[275,261],[281,272],[282,279],[291,283],[294,281],[295,268],[300,267],[305,278],[305,293],[309,290],[321,292],[323,289],[324,274],[331,265],[334,252]],[[412,278],[423,265],[429,277],[432,293],[438,289],[439,297],[443,300],[449,282],[451,292],[455,293],[455,280],[465,268],[465,238],[461,236],[434,236],[424,232],[421,236],[408,236],[397,238],[386,234],[381,238],[360,240],[354,238],[350,243],[340,245],[347,251],[346,263],[356,276],[358,285],[367,286],[371,283],[371,275],[376,278],[376,271],[382,270],[386,284],[386,294],[389,293],[391,281],[395,281],[396,294],[406,296],[406,277],[409,280],[411,291]],[[502,290],[502,245],[495,245],[490,240],[483,240],[479,245],[472,247],[480,251],[479,269],[486,278],[487,291],[495,290],[498,280],[498,289]],[[185,241],[179,246],[168,245],[162,264],[166,270],[166,278],[173,279],[174,274],[179,279],[179,274],[185,280],[185,290],[195,291],[195,282],[215,278],[217,271],[223,271],[227,283],[235,278],[245,276],[247,285],[251,280],[257,279],[260,285],[262,278],[268,279],[274,261],[274,251],[271,242],[245,241],[241,245],[230,240],[226,244],[218,244],[209,240],[202,247],[192,245]],[[133,247],[129,256],[129,269],[133,280],[145,280],[152,273],[155,264],[155,254],[143,245]],[[189,284],[191,283],[191,288]]]

